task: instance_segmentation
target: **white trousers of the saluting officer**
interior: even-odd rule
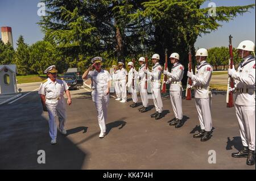
[[[92,100],[96,107],[98,125],[100,126],[101,133],[106,132],[106,119],[109,104],[109,94],[106,95],[105,92],[96,92],[94,90],[92,91]]]

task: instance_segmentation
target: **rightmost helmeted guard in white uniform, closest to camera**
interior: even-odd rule
[[[240,127],[243,149],[232,153],[232,157],[247,157],[247,165],[255,164],[255,50],[253,41],[242,41],[238,45],[238,56],[243,60],[237,71],[228,70],[235,83],[236,115]],[[231,89],[231,88],[230,88]]]

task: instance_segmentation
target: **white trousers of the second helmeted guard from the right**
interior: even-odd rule
[[[212,116],[210,114],[210,98],[196,98],[196,109],[201,129],[212,131]]]

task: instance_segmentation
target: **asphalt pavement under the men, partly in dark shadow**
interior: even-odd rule
[[[0,169],[255,169],[246,165],[246,158],[231,157],[242,144],[225,92],[213,94],[213,137],[207,142],[193,138],[199,131],[194,99],[183,100],[185,124],[176,129],[168,123],[174,117],[168,95],[163,97],[165,116],[160,120],[150,118],[155,112],[152,100],[151,110],[140,113],[141,106],[129,107],[130,96],[127,103],[111,96],[107,135],[100,139],[88,88],[71,94],[68,134],[58,133],[56,145],[49,143],[48,115],[37,91],[0,106]],[[45,151],[46,163],[38,163],[39,150]]]

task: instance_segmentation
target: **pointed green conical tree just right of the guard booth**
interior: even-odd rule
[[[17,66],[19,74],[27,75],[31,73],[31,66],[29,64],[30,60],[30,50],[26,43],[24,43],[24,38],[22,35],[16,43],[17,49],[15,52],[15,64]]]

